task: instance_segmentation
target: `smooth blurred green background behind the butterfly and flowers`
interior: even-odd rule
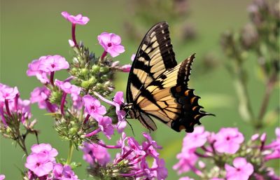
[[[76,15],[82,13],[90,18],[85,26],[77,26],[76,38],[83,41],[85,46],[97,55],[102,54],[102,47],[97,42],[97,35],[102,32],[114,32],[122,37],[125,53],[115,58],[121,64],[130,63],[130,56],[136,53],[140,40],[127,34],[125,22],[133,22],[141,27],[139,36],[144,36],[153,23],[139,23],[141,20],[133,13],[130,1],[38,1],[38,0],[1,0],[1,83],[18,86],[22,99],[28,99],[29,93],[41,84],[34,77],[26,75],[27,64],[31,60],[42,55],[59,54],[71,60],[72,52],[68,39],[71,39],[71,24],[62,18],[60,13],[68,11]],[[202,118],[201,122],[209,131],[217,132],[221,127],[239,127],[248,139],[253,134],[253,129],[244,121],[238,113],[238,100],[232,77],[225,69],[228,61],[221,51],[219,39],[226,29],[239,31],[248,22],[246,11],[251,1],[188,1],[189,13],[184,22],[194,25],[197,34],[195,39],[180,41],[181,34],[175,27],[179,25],[176,20],[162,15],[162,20],[169,20],[171,38],[174,45],[177,61],[181,62],[192,53],[197,53],[190,78],[190,88],[195,88],[196,95],[202,97],[200,104],[205,111],[216,114],[216,117]],[[147,13],[154,11],[151,6],[146,6]],[[161,17],[160,17],[161,18]],[[183,17],[184,18],[184,17]],[[147,25],[150,24],[150,25]],[[207,71],[203,67],[205,55],[211,54],[215,59],[214,67]],[[253,104],[253,111],[258,111],[265,87],[262,81],[255,78],[256,68],[252,60],[246,64],[251,68],[249,74],[249,92]],[[125,91],[127,83],[125,73],[118,74],[116,78],[116,90]],[[65,72],[59,72],[59,78],[65,78]],[[269,108],[279,104],[279,88],[274,90],[269,102]],[[40,142],[50,143],[59,151],[59,158],[66,158],[68,142],[60,141],[52,128],[53,120],[43,115],[45,111],[32,106],[33,117],[38,120],[36,127],[41,130]],[[141,132],[144,128],[136,120],[131,120],[136,139],[141,140]],[[278,121],[279,126],[279,121]],[[276,125],[266,127],[269,141],[275,137]],[[127,133],[131,134],[130,128]],[[181,151],[181,141],[185,133],[177,133],[165,125],[158,123],[158,130],[153,136],[163,146],[161,157],[165,158],[169,177],[167,179],[179,179],[172,166],[177,162],[176,154]],[[116,139],[116,138],[115,138]],[[113,144],[115,139],[108,141]],[[28,137],[27,145],[36,142],[34,137]],[[19,169],[23,169],[25,157],[20,147],[12,144],[9,139],[0,138],[1,164],[0,174],[6,174],[6,179],[20,179]],[[67,148],[66,148],[67,147]],[[74,152],[73,160],[83,161],[80,151]],[[269,162],[279,174],[279,162]],[[77,168],[79,179],[90,179],[85,173],[86,163]],[[278,170],[277,170],[278,169]]]

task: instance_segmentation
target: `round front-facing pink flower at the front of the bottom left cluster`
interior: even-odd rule
[[[27,156],[25,167],[37,176],[44,176],[52,171],[53,162],[45,153],[33,153]]]

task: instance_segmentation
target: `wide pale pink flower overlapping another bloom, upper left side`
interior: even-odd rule
[[[60,55],[48,55],[43,58],[39,64],[38,69],[46,73],[59,71],[61,69],[68,69],[69,63]]]

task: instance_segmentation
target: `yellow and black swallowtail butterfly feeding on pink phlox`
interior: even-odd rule
[[[202,111],[200,97],[188,88],[195,54],[177,64],[167,22],[154,25],[144,36],[134,57],[127,81],[127,104],[122,109],[156,130],[151,117],[158,118],[176,132],[193,132],[200,118],[213,115]]]

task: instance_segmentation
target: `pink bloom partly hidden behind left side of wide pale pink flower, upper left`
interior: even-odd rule
[[[38,60],[33,60],[31,63],[28,64],[28,69],[27,69],[27,76],[36,76],[38,80],[45,84],[49,83],[48,75],[50,73],[45,73],[44,71],[41,71],[39,69],[41,60],[45,59],[46,56],[39,57]]]

